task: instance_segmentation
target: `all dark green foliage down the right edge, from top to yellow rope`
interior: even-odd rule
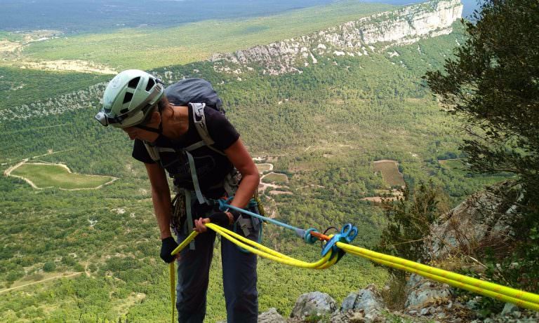
[[[535,0],[487,0],[466,22],[469,38],[446,60],[444,72],[425,76],[448,112],[465,121],[472,136],[462,150],[472,170],[517,177],[519,197],[511,224],[510,254],[487,252],[484,277],[539,291],[539,4]],[[484,298],[485,313],[500,303]]]

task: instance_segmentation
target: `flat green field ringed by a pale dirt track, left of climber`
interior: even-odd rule
[[[97,188],[112,180],[112,177],[107,176],[73,174],[60,165],[24,164],[11,174],[25,177],[39,188]]]

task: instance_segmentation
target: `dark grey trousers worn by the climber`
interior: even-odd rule
[[[261,225],[258,219],[252,221]],[[229,229],[232,230],[232,226]],[[237,230],[237,233],[244,235],[242,230]],[[180,234],[178,242],[186,236],[185,232]],[[258,228],[251,228],[247,238],[258,240]],[[206,316],[206,293],[215,232],[208,230],[197,235],[194,241],[195,249],[183,249],[178,261],[176,309],[179,323],[200,323]],[[221,259],[227,323],[256,323],[258,291],[255,254],[242,252],[232,242],[222,238]]]

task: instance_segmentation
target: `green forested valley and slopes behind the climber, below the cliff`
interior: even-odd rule
[[[361,56],[315,55],[318,63],[297,73],[267,75],[253,66],[238,75],[207,61],[152,72],[168,83],[182,77],[213,83],[251,154],[286,175],[265,179],[274,186],[262,191],[262,201],[274,217],[320,231],[350,222],[359,228],[354,244],[373,247],[386,220],[382,209],[361,199],[392,188],[374,161],[396,160],[409,188],[432,180],[453,204],[500,179],[469,174],[458,160],[441,161],[463,157],[457,149],[463,135],[421,76],[441,67],[462,42],[455,22],[452,34],[407,46],[366,48]],[[26,73],[24,104],[10,94],[16,83],[0,88],[1,170],[27,159],[119,179],[100,189],[66,191],[0,177],[0,320],[163,322],[170,308],[168,268],[158,256],[145,169],[131,158],[124,132],[93,121],[107,78]],[[39,96],[34,86],[43,91]],[[301,259],[319,257],[317,247],[298,244],[274,226],[265,226],[263,242]],[[225,317],[218,253],[214,261],[208,322]],[[56,279],[62,275],[70,276]],[[261,260],[260,310],[288,314],[305,291],[342,300],[350,290],[386,280],[384,268],[359,259],[345,258],[324,271]]]

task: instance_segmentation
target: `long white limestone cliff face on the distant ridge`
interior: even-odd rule
[[[460,0],[430,1],[346,22],[295,39],[235,53],[215,54],[210,60],[214,62],[216,71],[240,74],[253,67],[262,67],[264,74],[283,74],[317,64],[317,57],[321,56],[368,55],[368,50],[375,50],[374,45],[386,48],[449,34],[452,32],[451,24],[461,18],[462,13]]]

